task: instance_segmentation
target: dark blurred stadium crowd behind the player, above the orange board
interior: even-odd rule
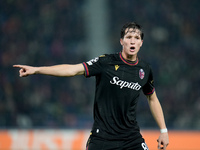
[[[152,65],[169,130],[199,133],[199,8],[199,0],[1,0],[0,143],[14,131],[89,131],[93,78],[19,78],[12,65],[80,63],[119,52],[129,21],[144,28],[139,55]],[[143,95],[137,115],[142,130],[158,129]]]

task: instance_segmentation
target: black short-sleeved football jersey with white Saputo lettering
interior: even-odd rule
[[[138,97],[154,92],[150,66],[137,58],[127,61],[121,52],[83,63],[85,76],[96,77],[92,134],[104,139],[141,137],[136,121]]]

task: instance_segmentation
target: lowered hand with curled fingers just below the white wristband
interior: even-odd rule
[[[167,146],[169,145],[168,133],[161,133],[157,142],[158,142],[158,149],[166,150]]]

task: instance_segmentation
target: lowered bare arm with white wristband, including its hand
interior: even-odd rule
[[[164,149],[166,150],[167,145],[169,144],[169,137],[168,132],[165,124],[165,119],[163,115],[163,110],[160,105],[160,102],[158,100],[158,97],[156,95],[156,92],[154,91],[153,94],[147,96],[149,107],[152,112],[152,115],[157,122],[159,128],[161,129],[161,134],[158,138],[158,149]]]

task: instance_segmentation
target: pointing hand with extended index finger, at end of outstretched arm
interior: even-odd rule
[[[36,67],[26,66],[26,65],[13,65],[13,67],[21,68],[19,70],[20,77],[26,77],[28,75],[35,74],[37,71]]]

